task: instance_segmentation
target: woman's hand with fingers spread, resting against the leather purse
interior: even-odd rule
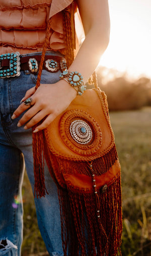
[[[33,87],[26,92],[22,101],[31,97],[31,106],[26,106],[23,102],[13,113],[12,119],[27,110],[18,122],[18,127],[26,124],[24,129],[29,129],[45,118],[34,132],[43,130],[69,106],[76,95],[75,89],[64,80],[55,84],[41,84],[37,90]]]

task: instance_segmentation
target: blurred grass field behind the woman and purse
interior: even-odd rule
[[[151,108],[110,113],[122,170],[123,256],[151,255]],[[22,255],[48,255],[25,175]]]

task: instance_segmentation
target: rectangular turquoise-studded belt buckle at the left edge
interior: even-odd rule
[[[0,62],[8,59],[10,61],[10,67],[2,69],[0,66],[0,78],[20,76],[20,53],[2,54],[0,56]]]

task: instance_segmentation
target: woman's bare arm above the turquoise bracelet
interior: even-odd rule
[[[79,71],[84,77],[84,82],[87,82],[109,43],[109,9],[107,0],[95,0],[93,4],[90,4],[90,0],[77,2],[86,38],[69,70]]]

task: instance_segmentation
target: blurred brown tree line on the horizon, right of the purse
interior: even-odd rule
[[[151,106],[151,80],[141,77],[129,80],[125,74],[105,67],[97,69],[98,85],[105,91],[110,111],[136,110]],[[108,80],[107,80],[108,79]],[[92,88],[87,84],[87,88]]]

